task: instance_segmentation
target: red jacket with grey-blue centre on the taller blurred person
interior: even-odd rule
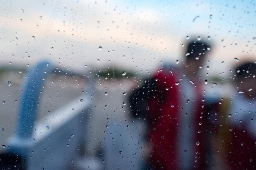
[[[204,169],[203,89],[181,70],[160,71],[153,80],[147,119],[156,170]]]

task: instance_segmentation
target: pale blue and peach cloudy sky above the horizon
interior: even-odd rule
[[[227,71],[234,57],[256,60],[255,1],[0,3],[2,65],[47,59],[78,70],[85,65],[100,68],[115,64],[135,71],[154,70],[161,60],[181,60],[186,36],[211,37],[210,72],[215,73],[216,68]]]

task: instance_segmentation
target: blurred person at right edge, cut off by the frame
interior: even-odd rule
[[[235,68],[236,93],[220,109],[222,155],[231,170],[256,169],[256,64]]]

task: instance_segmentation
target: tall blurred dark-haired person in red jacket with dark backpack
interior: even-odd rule
[[[204,104],[198,75],[210,47],[187,44],[182,64],[164,66],[130,98],[134,116],[148,122],[150,170],[205,168]]]

